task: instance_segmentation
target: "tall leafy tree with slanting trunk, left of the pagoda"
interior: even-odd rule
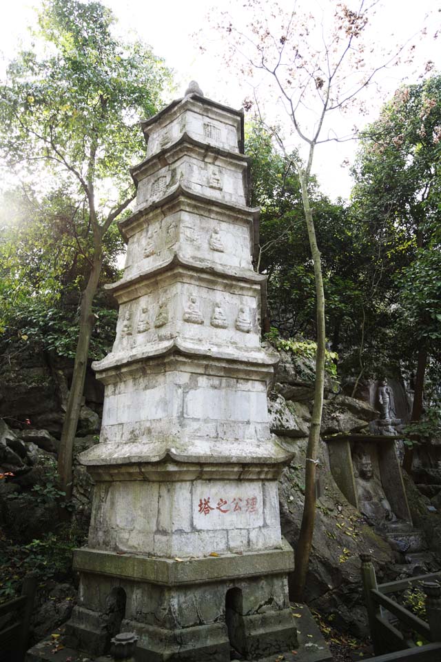
[[[99,2],[48,0],[39,43],[10,63],[0,87],[0,153],[19,177],[61,178],[84,205],[92,251],[81,293],[74,374],[59,452],[61,487],[72,491],[72,444],[103,268],[103,237],[134,199],[127,165],[142,154],[140,116],[158,110],[169,80],[163,61],[139,41],[124,43]],[[37,170],[36,170],[37,169]]]

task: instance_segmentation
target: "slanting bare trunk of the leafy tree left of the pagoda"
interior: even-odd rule
[[[85,373],[88,367],[90,337],[95,323],[95,318],[92,315],[92,302],[98,288],[102,265],[100,254],[98,258],[94,259],[88,284],[81,297],[79,337],[76,345],[74,374],[70,385],[58,456],[59,484],[61,490],[65,492],[66,501],[72,498],[72,450],[81,410]]]

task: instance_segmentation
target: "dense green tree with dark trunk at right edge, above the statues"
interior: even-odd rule
[[[400,305],[398,342],[416,362],[413,423],[421,418],[424,374],[441,338],[440,165],[437,75],[397,90],[379,119],[363,132],[353,169],[353,201],[362,210],[366,234],[388,261],[389,305]],[[411,468],[411,450],[404,468]]]

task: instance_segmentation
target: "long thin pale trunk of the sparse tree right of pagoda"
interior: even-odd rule
[[[320,251],[316,241],[314,219],[309,206],[308,174],[300,172],[300,185],[302,187],[302,201],[305,210],[305,219],[308,230],[311,257],[314,263],[314,277],[316,283],[317,300],[317,354],[316,354],[316,381],[314,385],[314,408],[312,410],[311,427],[307,445],[305,462],[305,505],[303,506],[302,523],[296,546],[296,563],[291,582],[291,598],[302,601],[305,590],[306,575],[311,552],[314,521],[316,519],[316,466],[318,445],[320,442],[320,425],[322,422],[323,386],[325,383],[325,292],[323,290],[322,265]]]

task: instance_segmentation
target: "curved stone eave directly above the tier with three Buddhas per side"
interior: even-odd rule
[[[267,279],[264,274],[258,274],[252,269],[240,269],[234,267],[223,268],[219,264],[209,263],[208,261],[205,263],[183,258],[178,251],[174,251],[169,259],[157,263],[150,268],[136,272],[127,279],[123,277],[120,281],[116,281],[116,283],[108,283],[107,285],[104,285],[104,288],[105,290],[111,290],[113,294],[121,292],[121,290],[130,290],[133,285],[136,285],[141,281],[156,278],[158,274],[162,274],[174,267],[183,267],[189,270],[219,276],[227,280],[245,281],[246,283],[255,283],[257,285],[260,285]]]

